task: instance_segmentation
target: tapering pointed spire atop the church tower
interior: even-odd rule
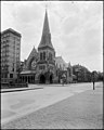
[[[53,46],[52,46],[52,42],[51,42],[51,32],[50,32],[50,28],[49,28],[49,21],[48,21],[48,12],[47,12],[47,10],[46,10],[46,15],[44,15],[42,37],[41,37],[41,41],[39,43],[38,50],[42,49],[44,47],[49,47],[49,48],[53,49]]]

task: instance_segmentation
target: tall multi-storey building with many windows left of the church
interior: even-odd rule
[[[21,63],[21,34],[9,28],[1,32],[1,81],[17,78]]]

